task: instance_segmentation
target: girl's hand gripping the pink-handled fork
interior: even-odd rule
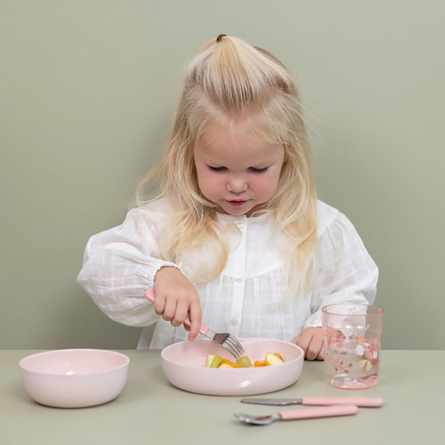
[[[173,326],[183,324],[188,314],[191,322],[188,339],[193,341],[201,328],[202,312],[192,283],[177,268],[162,267],[155,275],[153,291],[155,312]]]

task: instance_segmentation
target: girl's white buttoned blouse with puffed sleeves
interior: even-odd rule
[[[154,312],[144,298],[163,266],[157,238],[170,208],[165,199],[131,210],[124,223],[89,239],[84,265],[77,278],[102,312],[111,319],[144,328],[137,349],[162,349],[185,340],[183,326],[174,327]],[[331,303],[372,303],[378,269],[353,224],[338,210],[317,203],[319,262],[312,292],[285,299],[284,265],[268,243],[272,220],[218,214],[221,224],[236,224],[239,233],[227,232],[230,246],[221,275],[196,283],[203,322],[215,332],[237,337],[290,341],[303,329],[321,325],[321,308]],[[179,265],[180,266],[180,265]],[[186,272],[184,272],[186,274]]]

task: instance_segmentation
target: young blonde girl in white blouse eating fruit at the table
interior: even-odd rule
[[[143,200],[155,174],[159,196]],[[78,281],[110,318],[144,327],[138,349],[194,340],[204,320],[322,359],[321,307],[375,298],[377,267],[354,226],[317,201],[292,75],[262,48],[220,35],[192,59],[137,196],[124,223],[89,240]]]

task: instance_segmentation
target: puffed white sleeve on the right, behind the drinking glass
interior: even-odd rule
[[[304,328],[321,326],[321,308],[336,303],[373,303],[378,268],[354,225],[342,213],[319,234],[320,258],[312,288],[311,313]]]

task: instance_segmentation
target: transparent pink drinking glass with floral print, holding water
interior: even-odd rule
[[[324,363],[328,383],[336,388],[374,386],[379,375],[383,309],[342,303],[321,309]]]

